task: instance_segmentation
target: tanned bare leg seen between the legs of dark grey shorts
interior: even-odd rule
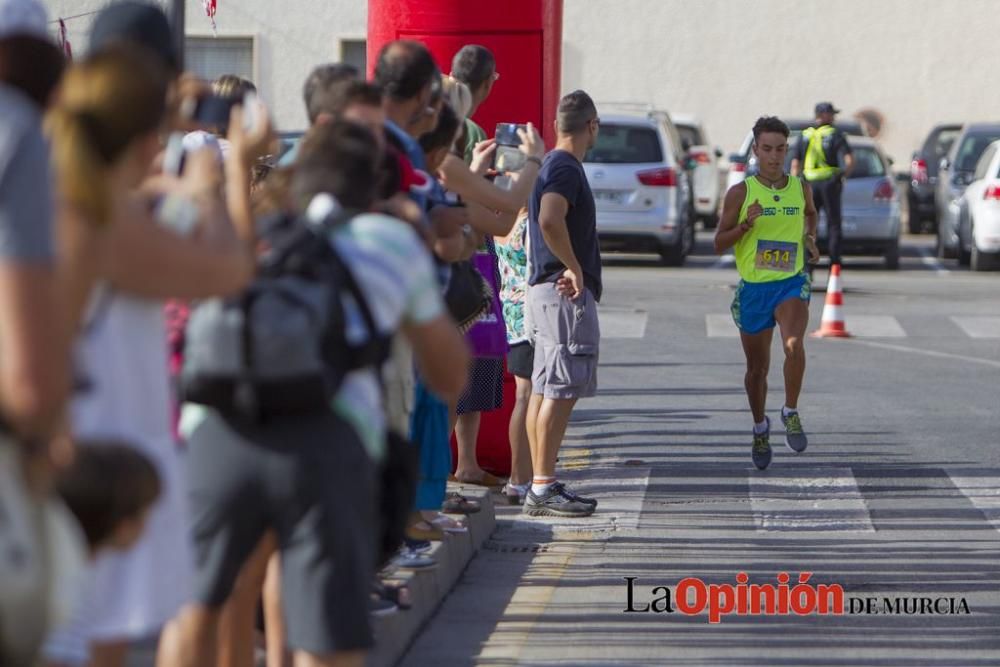
[[[255,664],[257,601],[264,588],[268,560],[277,548],[274,533],[265,534],[236,579],[219,618],[218,667],[253,667]]]

